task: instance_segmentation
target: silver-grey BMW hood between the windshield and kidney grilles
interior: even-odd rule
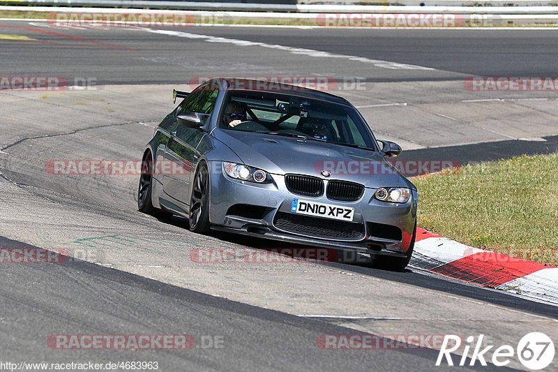
[[[272,174],[308,174],[358,182],[370,188],[414,188],[379,152],[262,133],[216,129],[213,135],[246,165]],[[331,176],[324,177],[322,170],[329,171]]]

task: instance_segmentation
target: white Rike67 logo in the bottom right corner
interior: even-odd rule
[[[462,357],[459,359],[458,365],[465,366],[469,351],[472,350],[469,366],[474,366],[478,361],[482,366],[487,365],[488,352],[490,352],[495,345],[485,345],[483,343],[484,335],[478,336],[475,342],[474,336],[469,336],[463,348]],[[448,366],[453,366],[454,361],[451,352],[458,350],[462,347],[460,336],[448,334],[444,336],[442,348],[438,354],[436,365],[442,364],[442,360],[446,359]],[[521,338],[517,348],[511,345],[501,345],[492,350],[492,362],[495,366],[506,366],[511,362],[510,358],[517,356],[521,364],[527,369],[538,371],[546,368],[552,363],[555,355],[555,346],[552,340],[547,335],[541,332],[531,332]]]

